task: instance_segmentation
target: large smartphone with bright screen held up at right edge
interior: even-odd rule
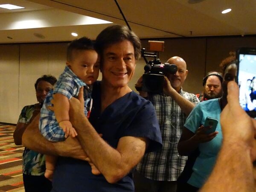
[[[236,58],[239,103],[249,116],[256,118],[256,48],[242,47]]]

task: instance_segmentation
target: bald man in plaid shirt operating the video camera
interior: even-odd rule
[[[176,192],[176,181],[186,163],[187,157],[178,155],[177,143],[186,117],[199,102],[198,98],[182,90],[188,75],[183,58],[172,57],[167,61],[177,65],[175,74],[166,74],[164,94],[140,92],[156,109],[163,139],[163,148],[145,154],[134,173],[136,192]],[[136,87],[142,86],[141,78]]]

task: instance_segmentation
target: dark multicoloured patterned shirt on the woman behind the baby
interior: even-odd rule
[[[25,106],[17,123],[28,123],[34,110],[35,105]],[[45,169],[45,155],[25,147],[23,152],[23,173],[26,175],[44,175]]]

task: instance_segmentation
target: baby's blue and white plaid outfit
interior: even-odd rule
[[[87,107],[91,102],[91,90],[84,81],[79,79],[78,76],[66,66],[64,72],[59,76],[54,88],[49,91],[44,99],[44,105],[41,108],[39,129],[47,140],[54,142],[65,140],[65,133],[59,126],[54,112],[47,109],[47,106],[52,105],[51,100],[53,94],[61,93],[62,95],[67,96],[68,99],[71,99],[73,96],[78,96],[82,86],[84,86],[84,113],[87,115]]]

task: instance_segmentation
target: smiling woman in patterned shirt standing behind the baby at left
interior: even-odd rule
[[[16,145],[21,145],[23,132],[32,119],[40,113],[42,103],[56,81],[57,79],[54,76],[44,75],[35,82],[35,93],[38,103],[27,105],[22,109],[13,134]],[[44,177],[44,172],[44,154],[25,147],[23,152],[23,183],[26,192],[51,191],[52,183]]]

